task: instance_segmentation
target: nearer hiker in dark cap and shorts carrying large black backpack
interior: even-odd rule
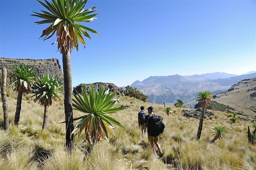
[[[159,152],[159,158],[161,158],[163,156],[163,152],[158,141],[160,134],[163,133],[164,131],[164,128],[162,129],[162,132],[159,129],[160,125],[163,124],[163,119],[161,118],[161,116],[155,115],[153,111],[154,107],[148,107],[148,115],[145,118],[145,127],[148,128],[148,142],[150,143],[150,146],[155,150],[154,143],[156,144],[156,147],[158,148]]]

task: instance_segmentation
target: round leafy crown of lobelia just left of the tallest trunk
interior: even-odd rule
[[[38,81],[34,83],[32,92],[33,96],[36,96],[35,101],[38,100],[40,105],[50,106],[52,105],[52,99],[55,102],[61,100],[63,85],[57,77],[47,74],[37,79]]]

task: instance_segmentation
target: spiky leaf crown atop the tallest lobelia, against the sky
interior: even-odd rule
[[[83,43],[85,48],[85,42],[82,35],[91,39],[87,31],[99,34],[97,31],[85,27],[83,25],[77,24],[77,22],[90,22],[93,21],[97,14],[91,14],[95,12],[96,7],[88,8],[84,10],[84,6],[87,0],[51,0],[48,2],[44,0],[45,3],[37,0],[37,2],[43,5],[49,12],[41,10],[43,13],[34,12],[32,16],[43,18],[44,20],[35,22],[36,24],[46,24],[51,23],[47,27],[40,38],[43,40],[51,38],[56,32],[58,42],[58,50],[66,52],[73,49],[73,46],[78,50],[78,40]],[[52,43],[53,44],[53,43]],[[69,49],[68,49],[68,44]]]

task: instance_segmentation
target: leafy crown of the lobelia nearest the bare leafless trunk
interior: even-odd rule
[[[22,91],[22,93],[30,93],[30,84],[36,79],[36,71],[30,66],[25,66],[25,63],[12,67],[9,73],[10,84],[15,86],[13,91]]]

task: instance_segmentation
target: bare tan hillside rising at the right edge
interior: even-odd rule
[[[256,116],[256,78],[239,81],[213,100],[235,108],[236,112]]]

